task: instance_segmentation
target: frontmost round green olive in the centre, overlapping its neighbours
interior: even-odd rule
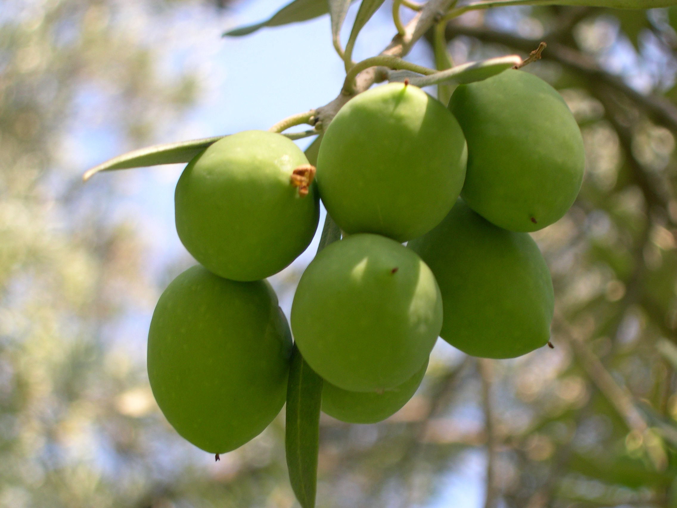
[[[320,252],[294,295],[292,332],[323,379],[351,391],[400,385],[428,358],[442,324],[437,282],[395,240],[355,234]]]

